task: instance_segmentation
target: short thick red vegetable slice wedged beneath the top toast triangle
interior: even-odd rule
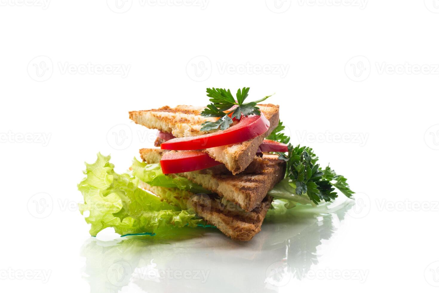
[[[202,170],[221,164],[200,151],[165,152],[160,160],[163,174]]]

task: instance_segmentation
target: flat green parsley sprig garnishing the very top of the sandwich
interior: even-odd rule
[[[207,88],[207,96],[212,103],[207,105],[207,108],[201,112],[204,117],[219,117],[215,122],[206,121],[202,123],[201,131],[209,131],[214,129],[226,130],[230,124],[233,123],[233,119],[241,119],[241,116],[249,115],[261,115],[261,111],[256,106],[258,103],[270,98],[266,96],[258,101],[252,101],[244,103],[248,97],[249,87],[243,87],[238,89],[236,93],[236,100],[230,90],[222,88]],[[233,109],[232,109],[233,108]],[[224,112],[230,110],[229,112]],[[231,114],[231,117],[229,116]]]

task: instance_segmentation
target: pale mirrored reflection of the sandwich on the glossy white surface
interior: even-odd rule
[[[267,270],[284,262],[285,273],[292,274],[288,278],[304,278],[318,263],[321,240],[331,238],[346,210],[318,217],[293,213],[294,209],[284,217],[270,215],[251,242],[231,241],[214,228],[186,228],[173,239],[135,236],[104,242],[90,238],[82,250],[86,279],[92,293],[118,292],[125,286],[128,292],[135,287],[145,292],[223,292],[218,284],[242,292],[276,292],[281,285],[276,282],[285,279],[277,275],[273,283],[267,279]]]

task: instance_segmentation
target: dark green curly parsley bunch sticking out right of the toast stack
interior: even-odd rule
[[[345,177],[336,174],[329,166],[324,170],[320,168],[317,164],[318,157],[312,148],[300,145],[293,147],[289,144],[288,155],[279,153],[279,159],[287,162],[285,176],[295,184],[295,193],[308,195],[315,204],[322,200],[329,202],[338,197],[335,188],[349,198],[354,194]]]

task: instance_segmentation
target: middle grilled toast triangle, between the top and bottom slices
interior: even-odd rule
[[[163,150],[160,149],[144,148],[140,150],[140,157],[147,163],[158,163],[162,153]],[[262,159],[263,165],[255,167],[258,171],[254,173],[219,174],[214,167],[178,175],[202,185],[249,212],[261,203],[267,192],[285,174],[285,162],[278,159],[277,155],[264,154]]]

